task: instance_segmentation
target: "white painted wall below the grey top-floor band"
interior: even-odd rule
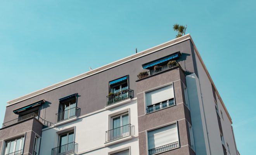
[[[109,116],[118,112],[129,110],[132,138],[114,145],[104,146],[106,131],[109,130]],[[94,115],[89,115],[60,126],[49,128],[42,133],[40,155],[51,154],[52,148],[57,147],[58,134],[56,132],[75,126],[74,141],[78,143],[79,154],[107,155],[115,149],[131,146],[131,154],[138,153],[138,113],[137,101],[131,101],[118,107],[104,110]]]

